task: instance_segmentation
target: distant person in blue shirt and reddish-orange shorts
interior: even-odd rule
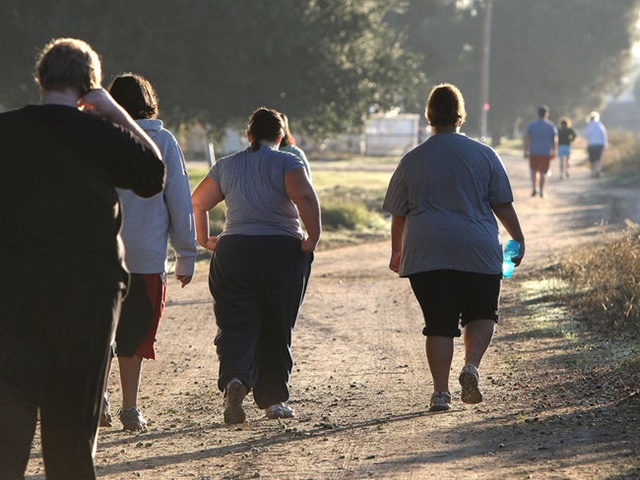
[[[551,160],[556,156],[558,130],[549,120],[549,107],[538,108],[538,118],[527,126],[524,136],[524,158],[529,159],[531,171],[531,196],[545,195],[545,183]]]

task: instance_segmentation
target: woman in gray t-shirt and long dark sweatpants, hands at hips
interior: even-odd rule
[[[198,243],[213,251],[209,288],[228,424],[246,420],[249,391],[267,418],[294,416],[287,404],[292,331],[321,223],[302,160],[278,150],[284,135],[279,112],[257,109],[247,130],[251,146],[218,160],[192,195]],[[223,200],[224,230],[210,236],[208,212]]]

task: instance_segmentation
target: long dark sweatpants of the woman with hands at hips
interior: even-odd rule
[[[218,388],[238,378],[258,408],[289,399],[291,336],[313,254],[286,235],[223,236],[211,259],[209,288],[218,325]]]

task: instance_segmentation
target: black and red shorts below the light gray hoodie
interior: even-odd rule
[[[119,357],[138,355],[142,358],[155,358],[153,344],[164,311],[166,294],[166,274],[131,274],[129,293],[122,302],[116,332],[116,353]]]

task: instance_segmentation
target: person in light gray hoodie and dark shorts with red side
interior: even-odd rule
[[[137,431],[147,424],[138,407],[138,391],[143,359],[155,358],[153,345],[166,297],[168,242],[175,251],[175,276],[182,287],[193,276],[197,247],[184,155],[173,134],[157,118],[158,97],[153,86],[140,75],[125,73],[113,80],[109,93],[158,145],[167,172],[163,192],[151,198],[118,191],[123,210],[120,235],[131,275],[116,332],[122,383],[119,417],[125,430]],[[101,424],[112,425],[108,401]]]

